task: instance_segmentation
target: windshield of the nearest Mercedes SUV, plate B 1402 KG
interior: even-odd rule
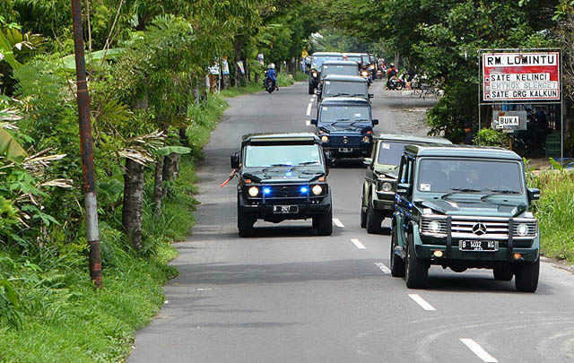
[[[417,188],[421,192],[472,189],[483,193],[522,194],[521,169],[516,161],[423,159]]]

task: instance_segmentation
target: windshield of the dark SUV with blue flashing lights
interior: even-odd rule
[[[274,165],[321,165],[321,153],[313,145],[248,145],[245,149],[246,168],[266,168]]]

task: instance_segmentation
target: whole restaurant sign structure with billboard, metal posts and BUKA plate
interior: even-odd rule
[[[561,104],[561,162],[564,159],[564,112],[559,49],[480,49],[478,125],[483,106],[503,109],[525,102]],[[493,113],[492,127],[506,132],[526,130],[525,112]],[[479,141],[480,143],[480,141]]]

